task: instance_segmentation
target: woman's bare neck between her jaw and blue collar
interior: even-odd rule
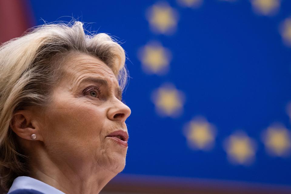
[[[85,161],[52,158],[46,152],[38,152],[30,161],[31,174],[66,194],[99,193],[116,173]],[[70,162],[68,162],[70,161]]]

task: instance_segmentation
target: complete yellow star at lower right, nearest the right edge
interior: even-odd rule
[[[290,132],[282,125],[272,125],[263,133],[267,151],[274,156],[288,156],[291,149]]]

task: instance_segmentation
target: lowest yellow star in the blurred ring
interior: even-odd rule
[[[248,165],[255,156],[255,143],[243,132],[230,135],[225,141],[225,149],[229,161],[236,164]]]

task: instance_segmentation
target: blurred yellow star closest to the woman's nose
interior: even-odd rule
[[[177,117],[182,113],[184,104],[183,92],[172,84],[164,84],[152,93],[156,111],[162,116]]]

